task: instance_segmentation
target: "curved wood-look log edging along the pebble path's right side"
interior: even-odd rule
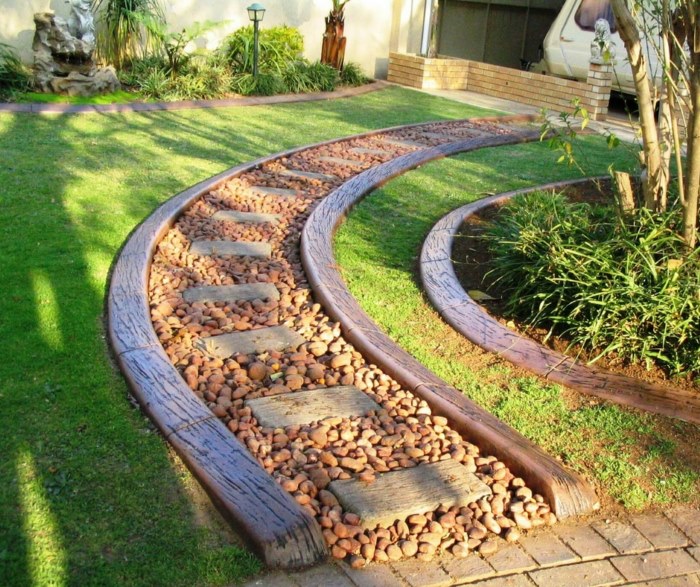
[[[315,297],[360,352],[424,399],[435,413],[449,418],[455,430],[504,461],[547,498],[558,517],[565,518],[599,507],[593,488],[399,348],[352,297],[333,256],[333,235],[349,209],[393,177],[442,157],[538,138],[537,131],[472,138],[409,153],[369,169],[329,194],[314,209],[302,232],[301,255]]]

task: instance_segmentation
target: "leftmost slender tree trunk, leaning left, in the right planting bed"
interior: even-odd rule
[[[664,159],[659,146],[659,137],[654,120],[654,100],[652,85],[647,71],[646,59],[637,31],[637,25],[630,14],[625,0],[611,0],[613,13],[617,21],[620,38],[625,44],[634,88],[637,92],[639,106],[639,124],[644,145],[645,177],[642,181],[644,204],[652,210],[658,210],[668,187],[668,169],[664,169]]]

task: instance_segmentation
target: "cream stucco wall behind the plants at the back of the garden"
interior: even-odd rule
[[[227,21],[200,44],[216,47],[224,36],[248,24],[246,6],[252,0],[164,0],[168,25],[181,29],[194,21]],[[416,52],[420,46],[425,0],[352,0],[345,8],[346,61],[362,65],[369,75],[385,78],[389,51]],[[324,16],[330,0],[265,0],[262,26],[298,27],[306,42],[306,57],[318,59]],[[0,43],[16,47],[31,62],[33,14],[52,10],[67,16],[65,0],[0,0]]]

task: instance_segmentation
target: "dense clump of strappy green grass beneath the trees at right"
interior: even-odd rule
[[[690,254],[678,208],[626,217],[561,194],[515,198],[486,233],[487,281],[507,311],[594,361],[614,353],[671,374],[700,370],[700,249]]]

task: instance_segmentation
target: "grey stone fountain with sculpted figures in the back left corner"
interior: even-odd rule
[[[40,92],[94,96],[120,88],[113,67],[94,60],[95,20],[90,0],[69,0],[68,20],[53,12],[34,15],[34,85]]]

